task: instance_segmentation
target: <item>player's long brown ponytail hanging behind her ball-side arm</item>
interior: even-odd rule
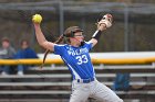
[[[55,43],[55,44],[59,44],[59,43],[61,43],[61,42],[63,41],[63,38],[64,38],[64,36],[63,36],[63,34],[62,34],[54,43]],[[42,69],[42,67],[43,67],[43,65],[44,65],[44,63],[45,63],[45,58],[46,58],[46,56],[48,56],[49,53],[50,53],[49,49],[46,49],[45,53],[44,53],[43,61],[42,61],[42,65],[41,65],[41,69]]]

